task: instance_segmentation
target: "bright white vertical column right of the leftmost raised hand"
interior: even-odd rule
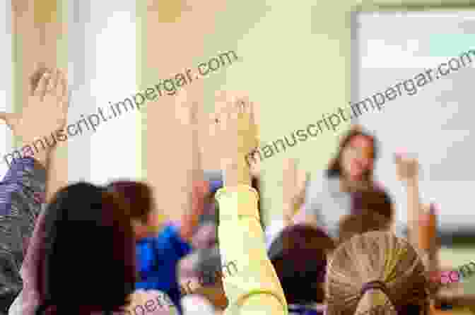
[[[75,54],[72,69],[76,102],[69,124],[99,114],[100,108],[105,121],[100,118],[95,132],[80,123],[83,135],[73,138],[69,151],[70,179],[96,184],[134,179],[141,160],[136,150],[140,112],[130,108],[125,112],[121,107],[122,114],[114,118],[109,102],[115,104],[137,92],[135,1],[74,2],[78,36],[71,36],[71,47],[77,49],[71,53]]]

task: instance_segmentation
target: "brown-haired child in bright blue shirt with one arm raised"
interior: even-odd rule
[[[177,280],[177,263],[192,252],[192,235],[204,210],[209,182],[194,183],[191,213],[185,213],[178,224],[160,222],[152,189],[147,184],[122,180],[107,187],[124,196],[131,209],[140,275],[136,288],[165,292],[181,312],[180,299],[184,292]]]

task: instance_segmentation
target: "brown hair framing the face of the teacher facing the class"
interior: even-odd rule
[[[341,153],[346,148],[346,145],[348,145],[350,141],[356,136],[363,136],[370,139],[370,141],[373,143],[373,160],[377,159],[377,143],[375,137],[370,133],[363,131],[360,126],[354,126],[341,140],[338,153],[336,153],[336,157],[332,159],[328,167],[327,177],[341,177],[343,175],[341,170]],[[373,182],[373,169],[370,169],[365,172],[365,174],[363,174],[363,180],[368,183]]]

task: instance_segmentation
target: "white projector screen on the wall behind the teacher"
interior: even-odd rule
[[[358,12],[352,27],[351,102],[384,93],[475,49],[475,11]],[[471,59],[414,95],[402,93],[380,112],[371,110],[356,121],[380,141],[376,176],[397,201],[399,220],[406,221],[406,198],[393,154],[405,148],[422,166],[423,203],[440,206],[440,230],[474,230],[475,55]]]

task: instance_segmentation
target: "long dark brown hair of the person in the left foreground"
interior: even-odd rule
[[[136,282],[135,241],[122,196],[87,183],[57,192],[45,211],[36,314],[119,311]]]

